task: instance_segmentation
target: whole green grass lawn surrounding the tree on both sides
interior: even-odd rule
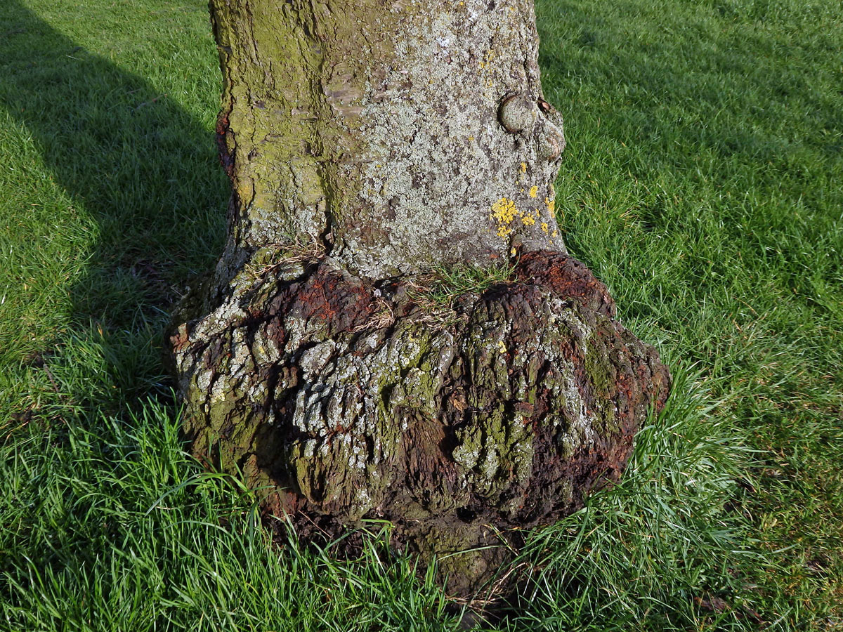
[[[566,243],[677,381],[490,625],[843,629],[840,5],[537,12]],[[203,0],[8,0],[0,53],[0,629],[459,629],[388,533],[274,548],[182,450],[160,332],[228,195]]]

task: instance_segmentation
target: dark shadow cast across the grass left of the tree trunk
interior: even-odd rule
[[[81,397],[99,406],[107,391],[120,403],[166,387],[161,325],[223,238],[228,186],[212,131],[14,0],[3,5],[0,60],[0,106],[98,228],[94,251],[79,254],[89,264],[70,289],[71,330],[56,341],[66,364],[87,362],[68,369],[78,381],[105,368],[101,388],[82,386]]]

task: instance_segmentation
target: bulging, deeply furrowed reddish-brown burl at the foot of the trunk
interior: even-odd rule
[[[185,431],[303,537],[388,520],[396,546],[448,554],[448,592],[470,595],[507,559],[501,534],[620,476],[669,372],[564,254],[525,253],[447,309],[376,285],[287,257],[204,297],[169,339]]]

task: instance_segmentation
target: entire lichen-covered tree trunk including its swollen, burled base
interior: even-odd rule
[[[233,195],[169,336],[193,452],[303,537],[388,520],[468,595],[670,383],[562,244],[532,0],[211,5]],[[508,276],[431,297],[466,266]]]

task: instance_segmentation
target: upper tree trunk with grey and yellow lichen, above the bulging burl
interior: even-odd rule
[[[564,137],[530,0],[231,0],[212,15],[239,249],[328,238],[377,279],[489,263],[515,235],[561,248]]]

